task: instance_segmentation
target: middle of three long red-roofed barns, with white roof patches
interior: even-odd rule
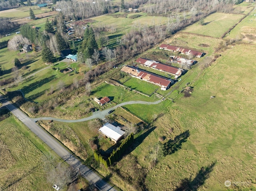
[[[154,61],[154,60],[149,60],[149,59],[145,59],[145,58],[138,58],[136,60],[137,63],[140,63],[141,65],[144,65],[146,67],[150,67],[159,71],[164,71],[166,73],[172,74],[175,76],[175,78],[180,77],[183,73],[184,70],[181,68],[177,68],[171,65],[167,65],[164,63],[160,63],[158,61]]]

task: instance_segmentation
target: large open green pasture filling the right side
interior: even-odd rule
[[[191,84],[190,97],[180,94],[168,111],[163,110],[165,115],[154,123],[156,129],[132,152],[150,169],[146,176],[150,190],[175,190],[183,183],[196,190],[226,191],[226,180],[249,183],[231,185],[231,190],[256,189],[256,65],[252,52],[256,52],[255,45],[227,49]],[[158,108],[126,107],[141,117]],[[184,136],[186,130],[189,134]],[[166,136],[161,144],[170,150],[166,156],[160,154],[156,166],[149,167],[149,148],[160,136]]]

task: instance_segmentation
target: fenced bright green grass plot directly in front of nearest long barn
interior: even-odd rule
[[[151,95],[156,89],[158,89],[157,85],[154,85],[152,83],[149,83],[137,78],[131,78],[125,83],[123,83],[123,85],[131,89],[134,89],[136,91],[139,91],[141,93],[144,93],[146,95]]]

